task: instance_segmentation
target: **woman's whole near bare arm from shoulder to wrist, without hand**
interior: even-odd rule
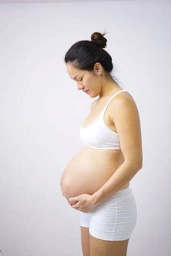
[[[122,189],[142,168],[142,137],[136,103],[131,97],[117,96],[112,102],[110,119],[116,126],[125,160],[110,179],[92,195],[97,204]]]

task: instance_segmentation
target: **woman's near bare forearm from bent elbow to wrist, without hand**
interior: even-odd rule
[[[136,164],[133,165],[127,162],[122,163],[110,179],[92,195],[95,204],[101,204],[104,200],[110,198],[116,192],[121,190],[123,186],[132,180],[140,169],[141,168]]]

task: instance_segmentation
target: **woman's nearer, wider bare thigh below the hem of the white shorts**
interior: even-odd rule
[[[126,256],[129,239],[105,241],[90,235],[90,256]]]

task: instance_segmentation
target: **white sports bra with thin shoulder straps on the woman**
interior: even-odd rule
[[[121,92],[127,92],[127,90],[123,89],[115,93],[112,96],[112,98],[107,102],[106,106],[104,107],[104,109],[102,110],[100,116],[96,119],[96,121],[91,123],[86,128],[84,128],[83,125],[81,126],[80,137],[82,142],[86,146],[89,146],[90,148],[96,148],[96,149],[108,149],[108,150],[121,149],[118,134],[115,131],[112,131],[110,128],[108,128],[104,122],[104,114],[106,112],[106,109],[109,103],[118,93],[121,93]],[[91,108],[91,110],[92,109],[93,108]]]

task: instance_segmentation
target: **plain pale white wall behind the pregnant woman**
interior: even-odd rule
[[[92,99],[67,74],[72,44],[107,34],[116,77],[139,110],[143,166],[128,256],[171,255],[171,2],[0,5],[0,249],[81,256],[80,212],[62,196]]]

